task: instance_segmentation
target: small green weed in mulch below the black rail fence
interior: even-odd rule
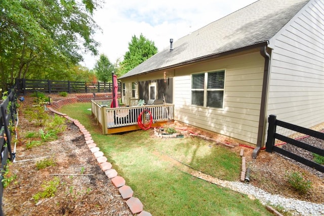
[[[306,194],[312,187],[311,181],[304,179],[303,174],[298,171],[286,174],[286,177],[288,183],[300,194]]]

